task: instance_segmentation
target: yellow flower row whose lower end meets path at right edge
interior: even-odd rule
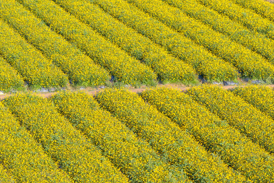
[[[243,75],[254,79],[274,78],[274,66],[260,54],[231,41],[228,36],[188,17],[180,9],[161,0],[126,0],[152,17],[176,29],[217,56],[233,64]]]

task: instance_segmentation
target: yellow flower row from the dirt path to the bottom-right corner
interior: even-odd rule
[[[274,176],[271,155],[188,95],[156,88],[146,90],[142,97],[252,182],[267,182]]]

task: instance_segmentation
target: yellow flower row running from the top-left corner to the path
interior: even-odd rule
[[[102,85],[110,79],[105,69],[100,68],[80,49],[51,31],[42,20],[36,18],[15,0],[1,3],[0,17],[59,66],[74,83]]]

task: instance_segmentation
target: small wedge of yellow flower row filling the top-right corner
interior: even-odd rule
[[[274,5],[263,0],[230,0],[244,8],[248,8],[255,13],[274,21]]]

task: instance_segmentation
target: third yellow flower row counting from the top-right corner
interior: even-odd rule
[[[163,0],[169,5],[179,8],[190,17],[196,18],[204,24],[210,25],[215,31],[229,36],[229,38],[243,46],[261,54],[270,63],[274,64],[274,40],[265,35],[251,32],[248,28],[218,12],[204,7],[203,5],[191,0]]]

